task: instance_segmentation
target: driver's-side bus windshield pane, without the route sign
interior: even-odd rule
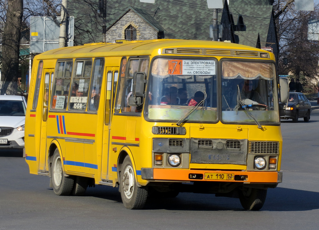
[[[222,61],[222,120],[279,122],[275,74],[270,62]]]

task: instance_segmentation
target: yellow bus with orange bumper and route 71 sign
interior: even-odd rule
[[[30,173],[49,176],[57,195],[119,187],[128,209],[196,192],[259,210],[282,182],[279,101],[288,95],[275,66],[261,49],[195,40],[39,54],[25,125]]]

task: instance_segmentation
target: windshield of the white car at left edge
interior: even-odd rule
[[[0,116],[26,116],[23,101],[0,100]]]

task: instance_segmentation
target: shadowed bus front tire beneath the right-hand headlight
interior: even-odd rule
[[[239,200],[246,210],[260,210],[265,203],[266,195],[266,189],[248,188],[239,193]]]

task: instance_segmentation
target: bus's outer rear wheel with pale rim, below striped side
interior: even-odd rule
[[[53,154],[51,166],[51,180],[53,191],[59,196],[69,196],[73,189],[73,177],[65,177],[63,175],[62,160],[59,150],[56,149]]]

